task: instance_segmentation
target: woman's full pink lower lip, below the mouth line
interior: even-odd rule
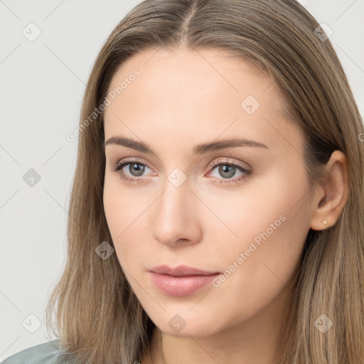
[[[158,287],[164,294],[168,296],[188,296],[193,292],[198,291],[206,284],[209,284],[218,274],[211,274],[208,276],[190,275],[174,277],[168,274],[151,273],[151,279],[156,287]]]

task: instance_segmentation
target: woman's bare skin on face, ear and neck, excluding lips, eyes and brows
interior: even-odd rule
[[[122,64],[109,90],[135,68],[141,75],[105,110],[105,140],[143,141],[156,155],[105,146],[104,205],[119,263],[156,324],[156,363],[161,343],[168,364],[272,363],[309,228],[336,223],[347,198],[346,157],[335,151],[327,165],[331,183],[310,191],[303,135],[282,112],[284,101],[272,80],[250,63],[216,50],[148,50]],[[248,95],[260,104],[252,114],[240,106]],[[232,137],[268,148],[193,154],[196,144]],[[141,176],[130,164],[123,168],[137,182],[112,171],[127,158],[147,167]],[[227,178],[219,166],[209,168],[227,159],[253,173],[236,169]],[[168,181],[175,168],[187,178],[178,187]],[[279,216],[284,222],[219,287],[208,284],[175,297],[151,281],[148,269],[159,264],[224,272]],[[168,325],[176,314],[186,323],[179,332]],[[151,360],[145,353],[140,362]]]

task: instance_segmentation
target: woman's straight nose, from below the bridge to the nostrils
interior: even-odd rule
[[[202,238],[198,203],[188,180],[178,187],[166,180],[164,192],[154,203],[154,239],[170,247],[197,244]]]

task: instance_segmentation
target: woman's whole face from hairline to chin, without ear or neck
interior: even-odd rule
[[[105,213],[151,320],[206,336],[282,312],[314,203],[272,80],[220,51],[149,50],[109,92]]]

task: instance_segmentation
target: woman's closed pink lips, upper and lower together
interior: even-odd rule
[[[151,280],[168,296],[188,296],[210,283],[220,272],[210,272],[179,265],[171,268],[160,265],[149,270]]]

